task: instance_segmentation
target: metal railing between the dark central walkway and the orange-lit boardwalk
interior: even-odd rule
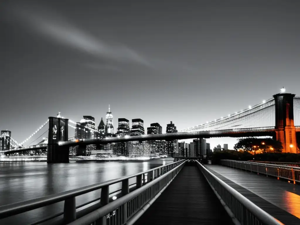
[[[238,191],[223,182],[202,164],[196,161],[199,170],[205,176],[205,179],[225,207],[229,215],[232,216],[235,224],[242,225],[279,225],[283,224],[270,214],[263,211],[249,199],[244,197]]]

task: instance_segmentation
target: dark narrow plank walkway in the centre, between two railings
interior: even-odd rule
[[[229,225],[232,220],[198,168],[186,165],[134,224]]]

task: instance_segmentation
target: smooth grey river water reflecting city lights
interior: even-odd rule
[[[0,205],[60,193],[66,190],[132,175],[171,162],[173,162],[173,159],[71,162],[68,164],[1,161]],[[130,179],[129,183],[135,183],[135,180]],[[110,187],[110,192],[120,188],[121,184],[115,184]],[[76,197],[76,205],[98,197],[100,197],[100,191],[84,194]],[[63,202],[18,216],[8,217],[4,220],[0,220],[0,224],[29,224],[61,211],[63,211]]]

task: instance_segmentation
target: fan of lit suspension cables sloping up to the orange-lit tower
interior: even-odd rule
[[[258,120],[259,121],[262,120],[260,121],[259,127],[269,127],[271,126],[270,123],[272,123],[272,126],[274,126],[273,125],[275,121],[274,105],[275,105],[274,99],[269,99],[268,101],[265,101],[265,103],[263,104],[260,103],[251,107],[251,109],[243,110],[239,113],[232,114],[223,119],[218,119],[213,122],[209,122],[206,124],[202,124],[200,126],[186,129],[184,130],[184,132],[199,131],[199,130],[201,131],[218,130],[221,128],[224,129],[224,127],[227,127],[227,129],[257,127],[256,124],[259,124],[257,122]],[[262,119],[262,116],[266,118]],[[274,118],[274,120],[271,120],[271,118]]]

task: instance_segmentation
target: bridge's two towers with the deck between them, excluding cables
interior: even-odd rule
[[[297,137],[299,140],[299,133],[296,134],[296,128],[294,125],[294,94],[281,93],[273,95],[275,100],[275,127],[272,127],[268,132],[257,132],[255,130],[237,131],[237,129],[231,130],[216,130],[222,135],[214,134],[215,131],[204,131],[204,133],[190,132],[190,133],[174,133],[171,136],[165,137],[165,134],[159,135],[159,137],[152,137],[151,135],[132,136],[130,138],[110,138],[109,140],[92,139],[83,140],[80,142],[68,142],[68,119],[60,117],[49,117],[49,134],[48,134],[48,145],[47,145],[47,163],[67,163],[69,162],[69,147],[79,146],[85,147],[86,145],[99,145],[110,142],[128,142],[128,141],[143,141],[143,140],[161,140],[164,139],[189,139],[189,138],[209,138],[209,137],[247,137],[250,135],[254,136],[268,136],[272,135],[274,139],[280,141],[283,146],[283,153],[298,153],[297,149]],[[227,132],[227,133],[226,133]],[[231,135],[231,136],[230,136]],[[234,135],[234,136],[232,136]],[[238,136],[240,135],[240,136]],[[296,136],[298,135],[298,136]],[[59,142],[64,142],[59,145]]]

